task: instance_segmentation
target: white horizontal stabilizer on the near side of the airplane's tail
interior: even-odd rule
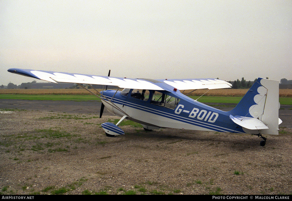
[[[230,115],[229,117],[234,123],[246,129],[261,130],[261,129],[269,128],[261,120],[257,118],[242,117],[242,116],[237,116],[237,115],[236,116]]]

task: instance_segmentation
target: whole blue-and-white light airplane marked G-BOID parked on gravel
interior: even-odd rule
[[[118,125],[129,119],[143,125],[150,131],[160,128],[176,128],[201,131],[218,131],[230,133],[248,133],[257,135],[263,140],[262,134],[278,135],[279,124],[279,81],[258,78],[237,106],[222,111],[194,100],[180,90],[221,89],[232,85],[219,79],[145,79],[119,78],[28,70],[11,68],[8,72],[16,73],[49,82],[67,82],[79,84],[99,84],[105,90],[92,92],[101,98],[102,106],[109,112],[121,117],[117,124],[103,123],[107,136],[123,135]],[[117,86],[117,90],[108,90],[107,86]],[[124,88],[124,89],[123,89]],[[93,88],[94,89],[94,88]],[[123,89],[120,91],[119,89]]]

